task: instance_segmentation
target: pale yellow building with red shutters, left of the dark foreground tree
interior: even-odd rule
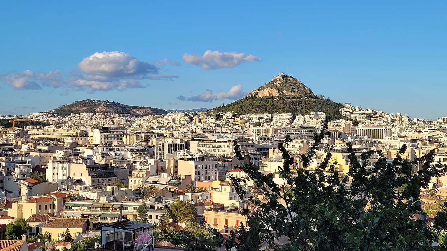
[[[247,218],[238,209],[216,210],[205,209],[203,211],[205,221],[220,233],[229,233],[231,230],[239,230],[239,226],[244,224],[248,228]]]

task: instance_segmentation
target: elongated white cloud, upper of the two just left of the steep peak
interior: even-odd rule
[[[202,66],[202,69],[215,70],[219,68],[233,68],[240,63],[261,61],[252,54],[238,52],[219,52],[217,50],[207,50],[201,56],[199,54],[185,53],[181,57],[186,63]]]

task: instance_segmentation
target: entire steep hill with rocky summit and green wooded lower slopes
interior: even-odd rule
[[[328,117],[340,118],[341,104],[324,97],[316,97],[299,79],[280,72],[270,82],[254,89],[246,97],[213,109],[215,113],[293,113],[324,112]]]

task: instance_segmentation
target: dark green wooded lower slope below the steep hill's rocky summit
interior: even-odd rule
[[[250,96],[236,100],[231,104],[216,107],[215,113],[233,111],[240,114],[250,113],[293,113],[309,114],[323,112],[330,118],[341,118],[339,110],[342,105],[329,99],[316,97],[266,96],[262,98]]]

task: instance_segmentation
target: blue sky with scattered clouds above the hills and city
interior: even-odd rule
[[[88,98],[213,108],[284,71],[336,102],[446,116],[446,5],[8,1],[0,113]]]

